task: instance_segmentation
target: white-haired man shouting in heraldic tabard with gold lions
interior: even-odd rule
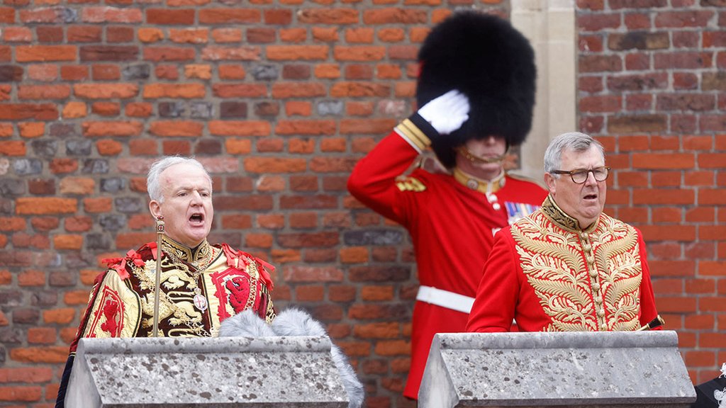
[[[106,260],[109,269],[96,278],[71,343],[56,407],[63,407],[80,338],[152,337],[155,327],[161,337],[211,337],[224,319],[245,310],[268,323],[275,317],[274,267],[227,244],[207,242],[214,217],[212,179],[201,163],[176,156],[158,160],[147,190],[151,215],[163,221],[161,246],[148,242]]]

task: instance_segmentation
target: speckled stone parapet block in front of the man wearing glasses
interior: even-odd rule
[[[688,407],[672,331],[439,333],[419,408]]]

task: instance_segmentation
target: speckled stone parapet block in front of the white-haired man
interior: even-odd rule
[[[65,406],[347,408],[325,336],[83,338]]]

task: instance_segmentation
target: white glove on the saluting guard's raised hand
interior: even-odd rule
[[[469,118],[469,99],[456,89],[426,102],[417,113],[439,134],[450,134]]]

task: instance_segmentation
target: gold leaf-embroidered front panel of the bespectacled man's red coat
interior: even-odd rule
[[[543,331],[637,330],[640,263],[635,229],[600,214],[582,230],[547,197],[512,227],[521,268],[552,319]]]

